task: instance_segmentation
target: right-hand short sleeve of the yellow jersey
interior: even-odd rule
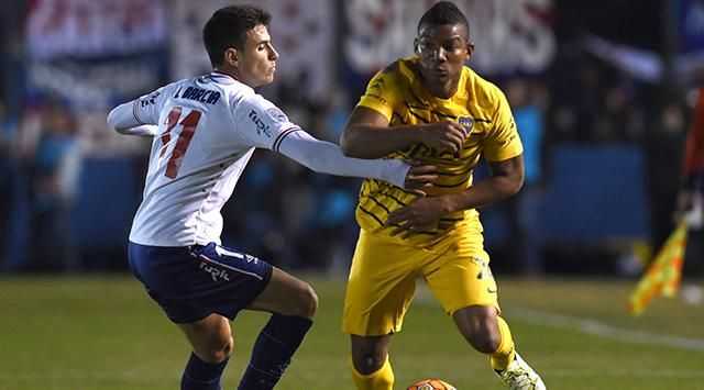
[[[493,129],[484,143],[484,157],[490,161],[503,161],[524,153],[514,114],[506,97],[497,90],[498,107],[494,115]]]

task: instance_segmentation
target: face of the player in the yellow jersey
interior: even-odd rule
[[[420,71],[426,86],[455,89],[462,67],[473,49],[463,24],[421,26],[416,38],[416,53],[420,56]]]

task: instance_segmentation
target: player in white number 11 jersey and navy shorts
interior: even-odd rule
[[[169,83],[108,116],[121,133],[154,136],[130,233],[130,268],[193,346],[183,390],[221,389],[233,347],[229,320],[242,309],[272,316],[241,390],[273,389],[312,324],[318,298],[307,282],[221,246],[220,209],[255,147],[315,171],[372,177],[415,191],[437,178],[431,166],[344,157],[256,94],[253,88],[272,82],[276,70],[270,20],[249,5],[218,10],[204,29],[211,74]]]

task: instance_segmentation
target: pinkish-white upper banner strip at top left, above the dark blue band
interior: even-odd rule
[[[26,47],[35,59],[130,54],[166,41],[160,0],[33,0],[28,9]]]

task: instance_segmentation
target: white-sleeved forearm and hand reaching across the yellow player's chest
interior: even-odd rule
[[[338,145],[317,140],[302,130],[288,133],[279,145],[280,154],[320,174],[374,178],[419,192],[438,178],[433,166],[417,166],[399,159],[346,157]]]

